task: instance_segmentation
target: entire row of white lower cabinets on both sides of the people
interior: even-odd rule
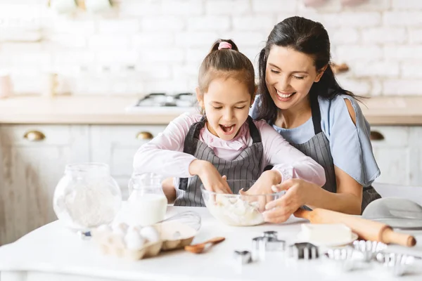
[[[104,162],[127,198],[136,150],[162,125],[0,125],[0,244],[54,221],[56,184],[70,162]],[[372,126],[378,183],[422,185],[422,126]],[[26,137],[25,137],[26,136]]]

